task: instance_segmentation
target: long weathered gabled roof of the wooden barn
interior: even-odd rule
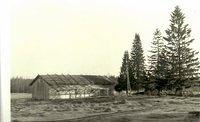
[[[40,78],[50,86],[61,85],[114,85],[116,81],[113,81],[105,76],[99,75],[37,75],[35,79],[29,84],[34,84],[37,79]]]

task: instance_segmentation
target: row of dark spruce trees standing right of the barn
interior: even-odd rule
[[[145,64],[140,35],[135,34],[131,52],[124,53],[115,90],[127,90],[128,78],[130,88],[135,91],[144,89],[160,94],[163,90],[173,90],[180,94],[199,79],[200,63],[198,52],[191,48],[193,41],[191,29],[185,24],[185,15],[176,6],[165,35],[159,29],[153,33],[148,65]]]

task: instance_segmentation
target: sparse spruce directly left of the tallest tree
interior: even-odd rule
[[[151,87],[148,88],[148,90],[157,90],[158,94],[160,94],[163,89],[166,89],[168,83],[168,65],[163,41],[160,30],[156,29],[153,34],[153,41],[150,50],[151,55],[148,57],[150,63],[150,82],[148,86]]]

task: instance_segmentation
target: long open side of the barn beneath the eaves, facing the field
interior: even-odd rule
[[[55,91],[53,88],[49,88],[49,99],[74,99],[85,97],[112,96],[114,94],[113,85],[91,85],[89,87],[87,85],[64,85],[60,87],[62,87],[62,89],[57,88],[60,92]],[[88,92],[90,89],[93,89],[93,92]]]

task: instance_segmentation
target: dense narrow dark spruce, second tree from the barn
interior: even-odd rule
[[[131,75],[135,78],[132,88],[139,90],[142,88],[143,81],[145,78],[145,64],[144,55],[142,49],[142,43],[139,34],[135,34],[135,39],[133,40],[133,46],[131,50]]]

